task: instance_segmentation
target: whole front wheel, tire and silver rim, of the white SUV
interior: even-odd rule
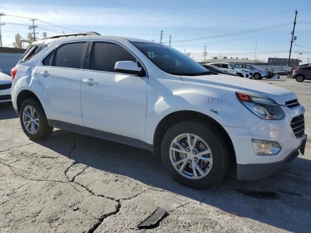
[[[205,122],[183,121],[164,135],[162,161],[179,183],[207,188],[220,183],[228,170],[230,157],[224,135]]]

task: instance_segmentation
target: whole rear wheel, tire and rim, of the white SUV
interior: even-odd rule
[[[26,99],[22,102],[19,119],[24,133],[30,139],[47,138],[53,131],[41,104],[35,99]]]

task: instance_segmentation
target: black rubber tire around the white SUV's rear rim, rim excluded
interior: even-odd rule
[[[26,127],[23,123],[23,112],[27,106],[33,107],[37,113],[37,116],[39,119],[39,126],[38,126],[36,133],[29,133],[26,130]],[[20,110],[19,110],[19,120],[20,120],[20,124],[21,124],[21,127],[22,127],[24,133],[30,139],[33,139],[33,140],[45,139],[48,136],[50,136],[52,131],[53,131],[53,127],[49,126],[49,124],[48,124],[48,120],[47,120],[47,117],[45,115],[45,112],[43,110],[42,105],[40,104],[40,102],[38,102],[37,100],[35,100],[33,98],[26,99],[22,102],[22,104],[20,106]]]

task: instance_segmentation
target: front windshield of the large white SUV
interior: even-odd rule
[[[207,68],[172,47],[147,42],[132,44],[167,73],[187,76],[212,74]]]

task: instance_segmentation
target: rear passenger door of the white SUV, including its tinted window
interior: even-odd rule
[[[35,69],[35,75],[44,80],[43,105],[48,106],[46,115],[54,126],[62,124],[65,129],[81,126],[83,130],[80,79],[87,44],[86,41],[62,44],[43,60],[42,67]],[[64,126],[64,122],[70,124]]]

